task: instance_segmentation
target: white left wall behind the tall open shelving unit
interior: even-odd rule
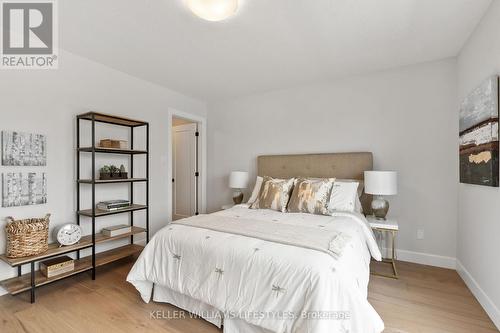
[[[75,221],[76,209],[76,120],[75,115],[90,110],[123,115],[150,122],[150,223],[151,235],[167,223],[170,216],[167,189],[168,109],[206,116],[206,105],[174,91],[134,78],[122,72],[94,63],[71,53],[61,52],[60,68],[50,71],[2,71],[0,74],[0,130],[17,130],[46,134],[48,139],[47,167],[2,167],[0,173],[15,171],[45,171],[48,176],[48,203],[39,206],[0,208],[0,249],[5,248],[4,217],[16,218],[52,214],[51,229],[64,222]],[[89,133],[89,132],[87,132]],[[99,138],[128,139],[123,129],[99,126]],[[140,134],[136,137],[139,140]],[[85,139],[85,135],[83,135]],[[88,135],[86,136],[88,142]],[[101,156],[98,165],[110,161],[125,163],[120,157],[111,160]],[[136,162],[137,171],[144,174],[144,165]],[[87,167],[85,167],[87,166]],[[82,161],[82,175],[90,176],[90,162]],[[83,185],[82,185],[83,186]],[[144,185],[137,185],[137,200],[143,199]],[[97,199],[127,197],[123,184],[102,187]],[[141,193],[142,192],[142,193]],[[90,208],[89,192],[82,192],[84,208]],[[136,213],[137,224],[143,223],[144,213]],[[123,223],[119,217],[98,220],[97,229]],[[83,220],[89,232],[89,220]],[[116,244],[114,245],[116,246]],[[3,252],[1,250],[0,252]],[[26,268],[27,269],[27,268]],[[0,280],[14,276],[15,270],[0,263]],[[1,291],[0,291],[1,293]]]

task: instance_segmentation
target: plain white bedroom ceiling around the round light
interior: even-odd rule
[[[207,101],[456,56],[491,0],[64,0],[61,47]]]

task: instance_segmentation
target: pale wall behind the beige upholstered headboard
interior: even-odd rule
[[[454,59],[220,102],[209,115],[209,210],[231,202],[229,172],[255,174],[260,154],[371,151],[375,169],[399,172],[389,214],[400,223],[400,258],[454,267]]]

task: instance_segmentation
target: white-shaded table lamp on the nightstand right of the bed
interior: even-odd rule
[[[375,195],[372,201],[373,215],[380,220],[385,220],[389,211],[389,202],[385,195],[398,193],[396,171],[365,171],[365,193]]]

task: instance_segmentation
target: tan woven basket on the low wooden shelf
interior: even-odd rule
[[[21,258],[43,253],[49,248],[49,218],[14,220],[7,217],[7,257]]]

